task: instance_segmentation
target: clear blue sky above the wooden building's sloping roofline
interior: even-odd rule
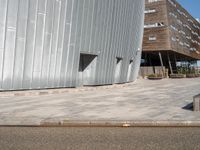
[[[177,0],[194,18],[200,18],[200,0]]]

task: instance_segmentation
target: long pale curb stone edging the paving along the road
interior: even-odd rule
[[[41,127],[200,127],[200,121],[58,121]]]

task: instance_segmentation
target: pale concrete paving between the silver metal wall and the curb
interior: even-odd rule
[[[1,93],[0,125],[40,125],[62,120],[200,121],[200,112],[190,108],[193,96],[200,93],[200,78],[139,79],[108,89],[85,88],[36,96]]]

